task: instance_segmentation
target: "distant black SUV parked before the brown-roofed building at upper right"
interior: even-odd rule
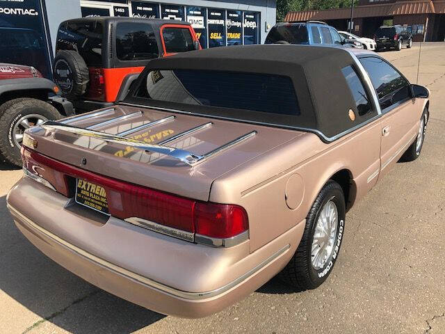
[[[394,48],[401,51],[403,45],[408,49],[412,47],[412,33],[401,25],[380,26],[375,31],[374,40],[377,43],[377,50]]]

